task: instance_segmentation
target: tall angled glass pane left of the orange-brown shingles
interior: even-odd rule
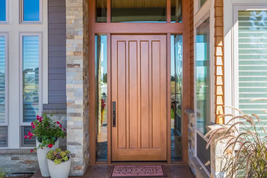
[[[206,134],[210,120],[210,32],[209,18],[196,29],[196,108],[197,129]]]

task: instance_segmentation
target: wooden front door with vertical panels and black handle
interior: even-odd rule
[[[111,35],[111,160],[167,160],[166,35]]]

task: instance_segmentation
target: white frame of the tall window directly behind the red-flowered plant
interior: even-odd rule
[[[23,36],[38,36],[39,37],[39,115],[42,114],[42,32],[19,33],[20,46],[20,147],[22,147],[22,126],[30,126],[31,122],[23,122]],[[32,147],[23,147],[32,148]]]

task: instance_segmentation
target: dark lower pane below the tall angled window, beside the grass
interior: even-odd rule
[[[197,139],[198,139],[197,156],[203,164],[206,164],[208,161],[211,161],[211,147],[209,146],[208,149],[206,149],[207,142],[198,134],[197,134]],[[205,167],[207,168],[207,170],[211,172],[211,165],[210,164],[206,165],[207,166]]]

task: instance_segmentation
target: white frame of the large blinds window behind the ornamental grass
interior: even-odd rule
[[[233,6],[233,106],[239,108],[239,75],[238,75],[238,11],[239,10],[265,10],[267,4],[264,5],[234,5]],[[234,110],[234,115],[239,115],[238,111]]]

